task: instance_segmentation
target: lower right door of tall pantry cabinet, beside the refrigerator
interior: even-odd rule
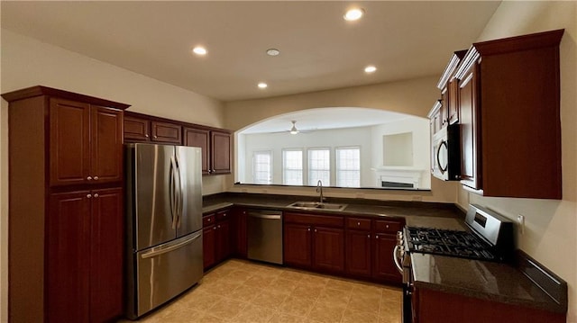
[[[90,321],[123,313],[124,209],[121,188],[92,191]]]

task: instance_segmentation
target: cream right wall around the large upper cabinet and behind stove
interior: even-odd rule
[[[517,247],[569,284],[567,322],[574,323],[577,322],[577,3],[504,1],[479,41],[562,28],[565,29],[560,47],[563,200],[488,198],[461,191],[458,203],[462,206],[478,203],[511,220],[516,220],[517,214],[525,215],[526,232],[517,235]]]

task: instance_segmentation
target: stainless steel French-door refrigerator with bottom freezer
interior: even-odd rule
[[[203,275],[200,148],[125,147],[127,301],[137,319]]]

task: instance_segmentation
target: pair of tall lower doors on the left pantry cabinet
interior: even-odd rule
[[[121,188],[50,194],[47,318],[102,322],[123,313]]]

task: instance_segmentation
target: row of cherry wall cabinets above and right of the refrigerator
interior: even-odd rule
[[[173,121],[136,112],[124,112],[124,141],[152,142],[202,148],[202,174],[231,173],[231,132]]]

